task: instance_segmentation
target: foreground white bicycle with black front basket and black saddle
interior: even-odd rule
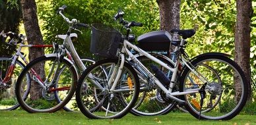
[[[117,17],[120,18],[120,16]],[[147,80],[148,84],[158,88],[164,102],[185,105],[187,111],[195,116],[195,118],[229,120],[234,118],[234,116],[241,111],[246,103],[247,91],[245,90],[248,87],[243,71],[238,64],[224,56],[223,53],[205,53],[198,55],[193,60],[189,60],[187,53],[185,53],[185,45],[187,44],[185,39],[192,37],[195,34],[194,30],[172,30],[171,32],[173,34],[178,34],[182,37],[180,41],[172,41],[172,37],[168,32],[161,34],[161,36],[167,37],[172,45],[176,46],[174,51],[176,61],[174,61],[174,67],[172,68],[169,64],[160,61],[146,53],[146,51],[143,51],[143,49],[127,41],[130,28],[133,26],[141,26],[140,23],[127,22],[125,20],[120,20],[120,23],[123,24],[123,28],[127,30],[127,33],[122,39],[121,35],[119,35],[120,33],[113,28],[107,26],[92,26],[92,38],[97,36],[97,30],[101,32],[105,31],[102,32],[102,34],[108,34],[110,31],[112,33],[115,32],[115,36],[112,36],[112,40],[110,40],[109,43],[104,43],[105,49],[103,50],[97,48],[95,45],[100,45],[103,41],[101,41],[101,39],[92,39],[92,53],[115,59],[98,61],[96,64],[89,66],[79,78],[76,99],[80,111],[82,111],[85,116],[88,118],[121,118],[134,106],[137,101],[137,95],[139,95],[136,93],[139,80],[136,78],[137,72],[133,69],[129,69],[133,68],[131,64],[127,63],[129,61],[133,61],[133,63],[136,64],[137,67],[135,69],[140,69],[139,72],[141,73],[139,76],[143,75],[144,80]],[[105,38],[106,37],[104,37],[104,39]],[[156,70],[154,73],[150,72],[148,68],[130,52],[130,49],[134,49],[140,53],[140,55],[144,55],[154,63],[172,71],[171,80],[169,80],[163,72],[161,73],[157,70],[154,65],[152,65],[151,68],[155,68]],[[129,59],[125,57],[129,57]],[[178,72],[179,64],[184,64],[181,72]],[[220,81],[217,80],[216,74],[207,70],[207,66],[210,66],[215,72],[218,72]],[[122,71],[123,68],[126,69],[125,72]],[[129,72],[129,75],[127,75],[127,69],[133,71]],[[106,75],[101,76],[101,74]],[[92,79],[92,76],[94,76],[94,79]],[[134,76],[134,79],[129,80],[127,76]],[[189,78],[192,78],[197,86],[191,84]],[[119,84],[117,84],[118,82]],[[102,86],[98,87],[99,83]],[[178,90],[175,89],[176,85],[178,85]],[[140,87],[139,89],[143,90],[145,88]],[[131,90],[135,92],[129,95]],[[123,95],[125,92],[127,95]],[[100,93],[102,95],[100,95]],[[93,99],[87,99],[93,96],[97,96],[95,97],[96,103]],[[112,99],[115,99],[115,101],[112,102]],[[205,101],[205,99],[207,101]],[[91,101],[94,101],[93,105],[88,105],[92,103]],[[109,107],[110,103],[111,108]],[[122,108],[123,110],[118,111],[117,108]]]

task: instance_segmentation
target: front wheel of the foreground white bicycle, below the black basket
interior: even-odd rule
[[[98,61],[89,66],[79,79],[76,91],[77,105],[88,118],[121,118],[127,114],[139,95],[139,78],[132,66],[125,63],[117,86],[110,91],[108,81],[117,59]],[[112,81],[113,82],[113,81]],[[98,84],[98,86],[96,86]],[[125,98],[125,102],[123,99]]]

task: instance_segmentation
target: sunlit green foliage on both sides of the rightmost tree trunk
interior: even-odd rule
[[[195,28],[197,33],[188,39],[187,53],[222,52],[234,56],[236,1],[181,1],[181,28]],[[256,2],[253,1],[256,11]],[[256,89],[256,14],[251,18],[251,79]]]

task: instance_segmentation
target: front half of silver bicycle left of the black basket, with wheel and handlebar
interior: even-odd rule
[[[27,112],[55,112],[64,107],[75,93],[79,78],[76,66],[80,70],[86,69],[75,51],[70,34],[72,30],[77,30],[78,27],[88,28],[88,25],[77,22],[75,18],[70,21],[65,17],[62,12],[66,7],[63,5],[58,10],[58,14],[69,24],[63,45],[53,46],[57,49],[57,53],[44,55],[30,62],[22,70],[16,82],[15,92],[18,103]],[[75,63],[65,57],[66,52],[70,53]],[[32,72],[32,69],[37,67],[43,72]],[[24,84],[25,74],[30,74],[32,78],[29,83],[31,87]],[[22,91],[28,93],[24,94]]]

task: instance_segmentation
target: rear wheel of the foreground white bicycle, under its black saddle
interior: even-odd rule
[[[240,66],[221,55],[202,56],[192,61],[191,64],[195,67],[194,70],[206,78],[208,84],[205,86],[206,93],[202,106],[200,93],[184,96],[187,111],[200,119],[229,120],[236,116],[245,105],[248,87]],[[220,80],[204,64],[214,69]],[[195,84],[191,84],[189,79],[193,79]],[[183,70],[181,91],[201,89],[204,84],[189,68]]]

